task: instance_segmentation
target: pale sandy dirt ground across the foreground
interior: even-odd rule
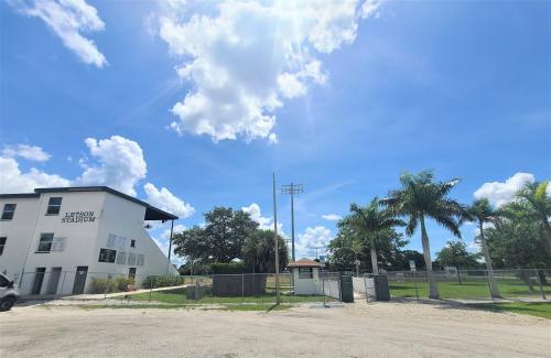
[[[445,303],[224,312],[17,306],[1,357],[551,357],[551,321]]]

